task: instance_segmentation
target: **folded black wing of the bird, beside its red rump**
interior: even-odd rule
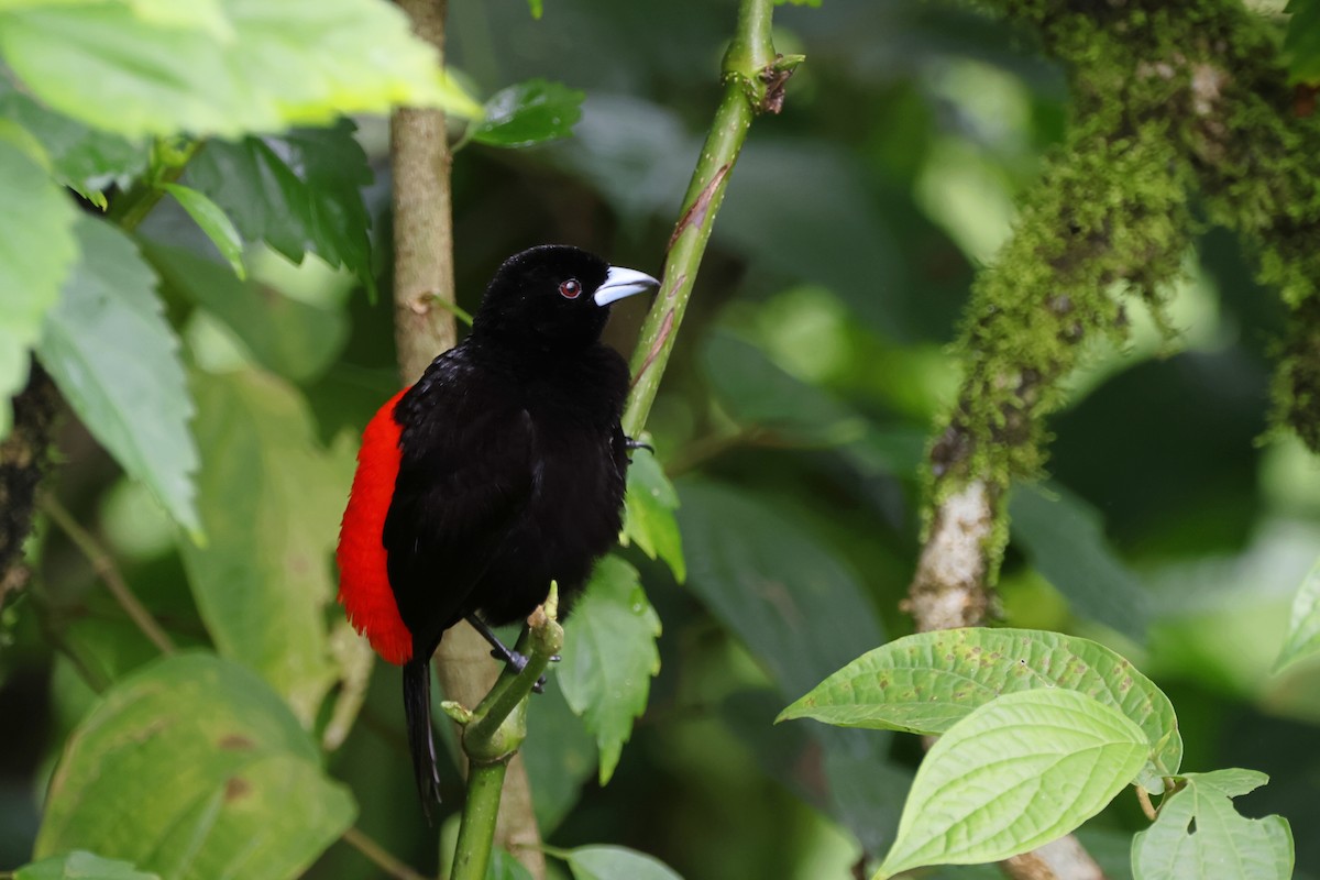
[[[414,653],[433,650],[473,611],[473,587],[536,479],[535,427],[516,400],[479,376],[433,379],[401,402],[399,476],[383,534]]]

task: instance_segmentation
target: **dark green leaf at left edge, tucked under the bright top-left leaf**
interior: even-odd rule
[[[50,157],[55,182],[102,210],[106,208],[102,190],[147,168],[148,150],[143,144],[87,128],[44,107],[4,78],[0,78],[0,116],[32,132]]]

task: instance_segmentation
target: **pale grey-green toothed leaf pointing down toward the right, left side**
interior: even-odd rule
[[[46,315],[41,363],[92,437],[197,536],[193,404],[156,276],[108,223],[82,216],[75,231],[82,259]]]

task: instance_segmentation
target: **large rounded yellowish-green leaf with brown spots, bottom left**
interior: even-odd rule
[[[36,855],[77,846],[165,880],[284,880],[355,811],[260,678],[174,654],[116,683],[70,736]]]

